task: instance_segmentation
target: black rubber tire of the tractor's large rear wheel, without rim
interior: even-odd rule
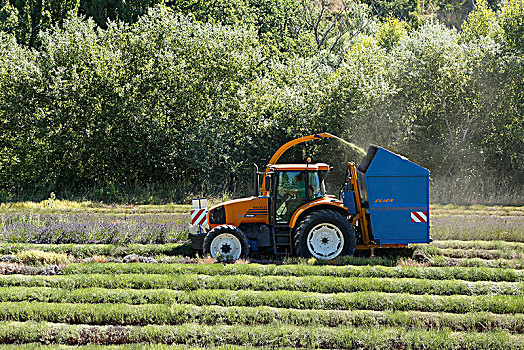
[[[308,247],[308,235],[310,231],[319,224],[327,223],[336,226],[344,237],[344,247],[337,256],[353,255],[357,244],[355,229],[347,218],[337,211],[321,209],[309,213],[300,221],[295,233],[295,251],[297,255],[304,258],[312,257],[313,254]],[[336,256],[329,258],[333,259]]]

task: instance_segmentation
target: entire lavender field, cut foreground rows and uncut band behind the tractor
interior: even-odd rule
[[[192,255],[189,209],[0,205],[0,347],[524,350],[523,207],[434,205],[409,256],[235,264]]]

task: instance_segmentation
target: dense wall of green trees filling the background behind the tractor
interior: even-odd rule
[[[523,1],[373,3],[0,0],[0,200],[245,194],[327,131],[429,168],[436,201],[521,201]]]

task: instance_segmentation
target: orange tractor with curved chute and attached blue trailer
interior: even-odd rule
[[[266,250],[328,260],[355,249],[429,243],[429,171],[406,158],[370,146],[358,168],[348,163],[339,198],[325,193],[329,165],[277,164],[290,147],[323,138],[338,139],[320,133],[282,145],[264,172],[255,171],[255,196],[200,209],[192,247],[214,258]]]

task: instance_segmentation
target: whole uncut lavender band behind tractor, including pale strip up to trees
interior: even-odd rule
[[[187,241],[189,207],[107,206],[56,201],[2,205],[0,242],[163,244]],[[432,207],[434,240],[524,242],[523,207]]]

